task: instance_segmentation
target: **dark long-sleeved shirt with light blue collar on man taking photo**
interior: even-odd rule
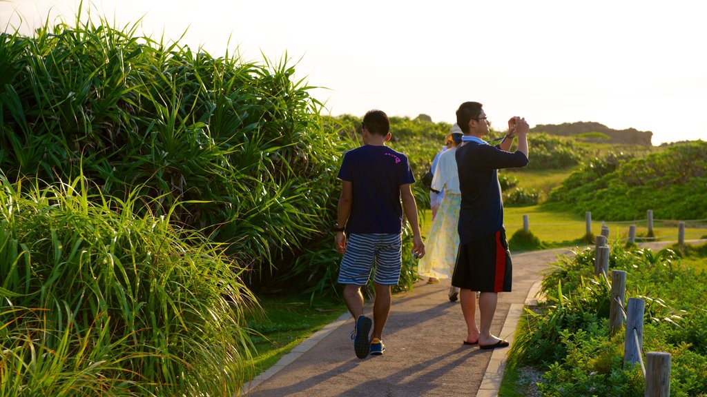
[[[503,229],[503,199],[498,170],[525,167],[522,152],[510,153],[479,138],[464,136],[457,147],[457,170],[462,204],[459,211],[460,244],[469,244]]]

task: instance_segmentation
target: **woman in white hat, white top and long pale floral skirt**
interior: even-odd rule
[[[429,280],[452,277],[459,249],[459,207],[462,196],[459,191],[459,174],[457,173],[456,148],[462,143],[462,130],[452,126],[452,146],[438,158],[432,178],[432,189],[444,191],[445,194],[437,211],[432,217],[432,227],[427,237],[427,255],[420,260],[418,275]],[[429,283],[429,281],[428,281]],[[456,302],[459,289],[452,286],[449,300]]]

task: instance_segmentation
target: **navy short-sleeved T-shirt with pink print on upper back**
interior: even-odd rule
[[[407,156],[387,146],[365,145],[344,154],[339,179],[351,182],[347,233],[402,232],[400,186],[415,182]]]

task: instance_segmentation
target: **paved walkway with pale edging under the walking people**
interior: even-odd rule
[[[653,245],[658,244],[658,245]],[[652,243],[658,249],[667,243]],[[498,295],[491,333],[513,343],[525,304],[532,303],[548,263],[568,249],[513,255],[513,292]],[[247,396],[497,396],[508,348],[465,346],[459,302],[447,297],[450,280],[417,283],[394,295],[382,356],[354,355],[347,313],[284,356],[243,388]],[[372,316],[370,307],[366,314]],[[477,310],[477,321],[478,310]]]

